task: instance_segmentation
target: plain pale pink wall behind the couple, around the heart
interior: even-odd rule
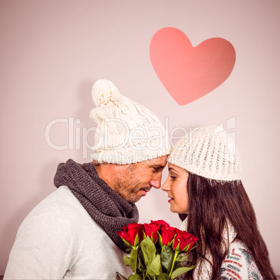
[[[90,160],[86,140],[93,145],[93,132],[86,137],[82,130],[95,125],[88,114],[97,79],[114,81],[121,93],[154,111],[163,123],[168,117],[169,132],[235,120],[244,186],[280,274],[279,12],[279,0],[1,0],[0,274],[18,226],[54,191],[57,164],[68,158]],[[193,45],[225,38],[237,55],[224,84],[185,106],[166,92],[150,63],[150,40],[166,26],[182,30]],[[56,123],[50,139],[68,145],[65,150],[50,148],[45,139],[45,128],[57,118],[68,123]],[[180,224],[160,190],[138,206],[141,222]]]

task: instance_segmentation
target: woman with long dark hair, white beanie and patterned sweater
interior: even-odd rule
[[[235,144],[219,127],[182,137],[168,157],[162,189],[181,229],[199,238],[183,279],[276,279],[256,215],[241,182]]]

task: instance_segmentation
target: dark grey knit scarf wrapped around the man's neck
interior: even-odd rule
[[[65,164],[59,164],[54,176],[54,185],[67,186],[116,246],[123,251],[128,249],[117,232],[127,224],[138,222],[137,207],[116,194],[98,176],[92,162],[78,164],[73,160],[68,160]]]

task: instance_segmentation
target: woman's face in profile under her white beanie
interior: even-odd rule
[[[189,173],[181,167],[169,164],[169,177],[162,185],[162,190],[169,196],[170,210],[174,213],[189,212],[189,198],[187,196],[187,179]]]

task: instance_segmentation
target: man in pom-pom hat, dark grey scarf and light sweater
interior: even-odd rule
[[[24,219],[4,279],[116,279],[130,275],[117,232],[139,219],[135,202],[160,188],[169,153],[157,117],[120,95],[111,81],[93,85],[98,123],[93,162],[59,164],[56,191]]]

